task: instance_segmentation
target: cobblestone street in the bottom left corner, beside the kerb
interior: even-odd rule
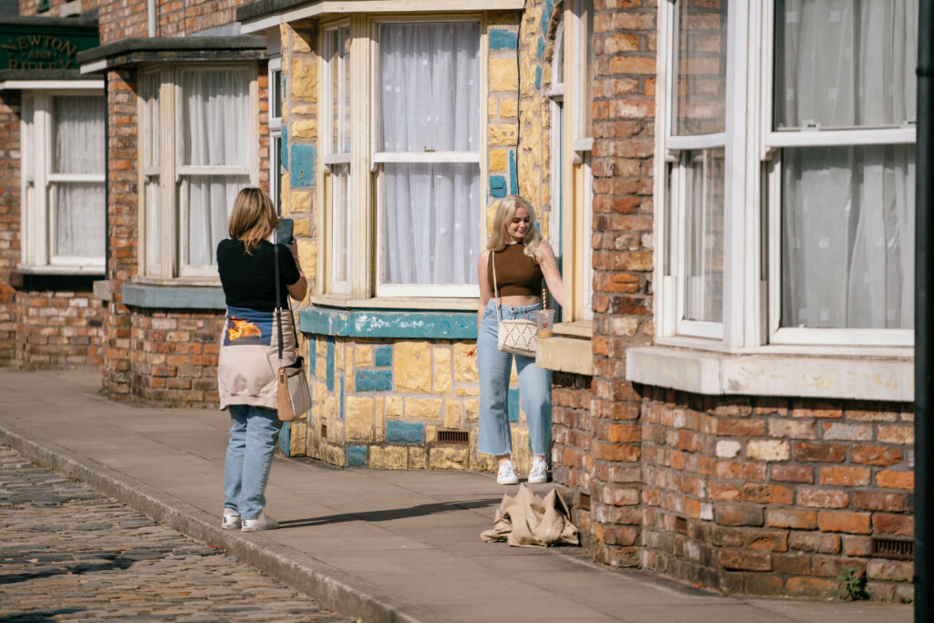
[[[353,621],[0,446],[0,620]]]

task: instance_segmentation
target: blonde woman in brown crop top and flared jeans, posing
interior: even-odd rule
[[[493,262],[502,319],[531,319],[542,308],[542,279],[561,304],[563,286],[555,254],[542,240],[531,204],[518,195],[503,198],[496,207],[493,232],[477,262],[480,306],[476,365],[480,377],[480,430],[478,450],[499,461],[496,482],[518,483],[512,462],[509,432],[509,375],[513,358],[519,381],[522,410],[529,424],[532,458],[529,482],[547,482],[545,453],[551,443],[551,374],[531,357],[512,355],[497,348],[498,317],[493,300]]]

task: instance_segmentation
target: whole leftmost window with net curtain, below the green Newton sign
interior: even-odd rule
[[[104,272],[105,114],[102,92],[23,92],[24,269]]]

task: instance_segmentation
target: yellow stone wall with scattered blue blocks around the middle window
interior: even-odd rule
[[[543,55],[538,50],[539,39],[554,38],[553,19],[547,21],[551,32],[543,33],[543,12],[555,15],[560,7],[530,0],[521,14],[490,11],[486,16],[489,205],[502,194],[519,191],[538,208],[546,236],[552,198],[550,109],[544,93],[550,82],[551,44]],[[283,135],[291,153],[296,146],[314,147],[318,141],[318,32],[313,25],[283,24],[280,35],[286,86]],[[286,168],[280,184],[283,212],[295,219],[300,259],[313,291],[320,242],[318,193],[314,181],[305,180],[298,188],[290,179]],[[489,225],[492,210],[487,214]],[[477,453],[479,386],[475,358],[468,355],[474,346],[474,340],[303,335],[300,352],[308,362],[313,406],[307,418],[290,423],[289,454],[373,468],[492,470],[495,460]],[[367,382],[376,385],[367,387]],[[517,389],[515,370],[510,387]],[[521,474],[528,471],[531,456],[525,415],[518,411],[511,426]],[[418,432],[417,438],[401,439],[401,431],[403,437]],[[439,431],[467,432],[469,443],[439,443]]]

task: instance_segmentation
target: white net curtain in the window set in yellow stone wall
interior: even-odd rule
[[[476,23],[380,28],[378,149],[479,149]],[[387,163],[383,169],[383,283],[468,284],[480,222],[476,163]]]

